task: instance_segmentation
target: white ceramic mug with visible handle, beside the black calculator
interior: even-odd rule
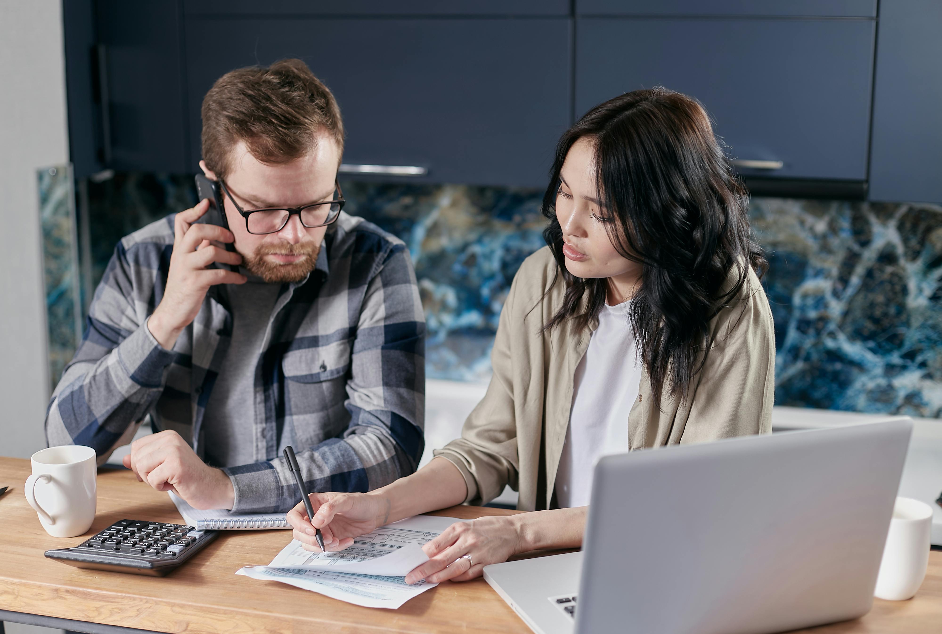
[[[95,519],[95,450],[81,445],[41,449],[30,458],[33,475],[24,493],[53,537],[75,537]]]

